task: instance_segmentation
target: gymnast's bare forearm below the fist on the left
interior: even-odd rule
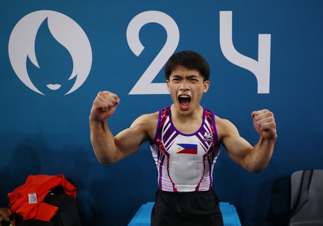
[[[91,116],[89,121],[90,139],[95,155],[102,164],[113,163],[117,148],[107,121],[97,122],[91,119]]]

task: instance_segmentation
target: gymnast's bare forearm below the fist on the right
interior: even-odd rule
[[[276,139],[277,135],[271,140],[260,137],[258,143],[245,158],[245,164],[249,171],[260,173],[266,168],[273,154]]]

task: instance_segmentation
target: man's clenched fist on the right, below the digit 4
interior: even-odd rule
[[[276,136],[276,123],[274,114],[267,109],[253,111],[251,116],[254,118],[256,131],[266,140],[271,140]]]

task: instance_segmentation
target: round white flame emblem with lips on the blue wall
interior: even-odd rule
[[[40,10],[21,18],[11,32],[9,39],[9,59],[18,78],[30,89],[40,92],[31,82],[26,68],[27,56],[38,68],[35,54],[35,40],[38,28],[47,18],[48,28],[53,37],[71,54],[73,71],[68,80],[76,77],[72,88],[65,94],[78,89],[89,75],[92,65],[92,50],[88,37],[83,29],[70,17],[50,10]],[[50,89],[58,89],[60,85],[49,84]],[[45,95],[45,94],[43,94]]]

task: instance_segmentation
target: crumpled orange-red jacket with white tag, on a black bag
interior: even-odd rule
[[[26,183],[17,187],[8,194],[10,198],[10,208],[12,213],[23,216],[24,220],[36,219],[50,221],[55,215],[58,207],[43,202],[48,191],[55,186],[61,185],[66,194],[76,198],[76,187],[66,180],[63,174],[57,176],[30,175]],[[28,194],[36,193],[37,203],[29,203]]]

